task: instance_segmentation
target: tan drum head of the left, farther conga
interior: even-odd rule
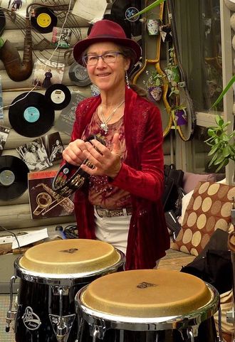
[[[78,274],[110,267],[120,254],[107,242],[68,239],[44,242],[26,250],[19,266],[46,274]]]

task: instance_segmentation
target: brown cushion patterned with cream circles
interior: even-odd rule
[[[235,187],[208,181],[199,182],[189,201],[182,229],[172,249],[199,255],[217,228],[228,231]]]

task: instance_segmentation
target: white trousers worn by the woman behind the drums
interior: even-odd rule
[[[95,208],[94,208],[95,209]],[[100,218],[95,210],[95,236],[126,254],[131,215]]]

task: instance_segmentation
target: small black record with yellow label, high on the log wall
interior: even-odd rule
[[[46,7],[38,7],[31,15],[31,25],[40,33],[49,33],[57,24],[56,15]]]

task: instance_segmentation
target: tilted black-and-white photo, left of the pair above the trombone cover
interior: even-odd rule
[[[40,171],[52,166],[42,138],[21,145],[16,148],[16,151],[28,166],[29,171]]]

